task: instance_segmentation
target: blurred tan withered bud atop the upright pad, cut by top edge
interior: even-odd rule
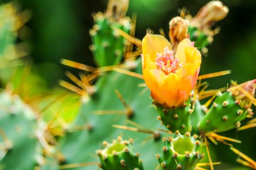
[[[125,17],[128,10],[129,0],[109,0],[106,17],[113,17],[116,21]]]

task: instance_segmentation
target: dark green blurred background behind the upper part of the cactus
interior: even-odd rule
[[[64,70],[76,73],[59,63],[61,58],[94,66],[89,50],[89,29],[94,23],[92,13],[104,11],[107,0],[18,0],[21,8],[28,9],[32,18],[26,24],[26,39],[31,44],[30,57],[49,86],[67,80]],[[163,28],[168,34],[168,23],[178,16],[178,9],[186,7],[192,16],[209,0],[130,0],[128,16],[137,17],[136,37],[142,39],[147,28],[158,34]],[[231,69],[232,74],[209,80],[212,88],[229,83],[254,79],[256,67],[256,1],[223,0],[229,7],[228,16],[214,26],[221,31],[209,46],[203,58],[200,74]]]

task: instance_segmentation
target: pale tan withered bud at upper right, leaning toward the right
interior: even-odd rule
[[[212,0],[198,11],[192,19],[191,25],[197,27],[204,34],[214,35],[211,27],[215,22],[225,18],[228,12],[228,8],[221,1]]]

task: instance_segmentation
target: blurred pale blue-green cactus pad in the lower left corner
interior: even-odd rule
[[[0,99],[1,170],[33,170],[42,163],[35,114],[16,95],[1,92]]]

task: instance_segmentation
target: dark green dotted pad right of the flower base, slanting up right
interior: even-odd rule
[[[247,111],[241,108],[231,92],[218,93],[210,110],[199,124],[203,132],[224,132],[240,126],[240,121],[245,119]]]

